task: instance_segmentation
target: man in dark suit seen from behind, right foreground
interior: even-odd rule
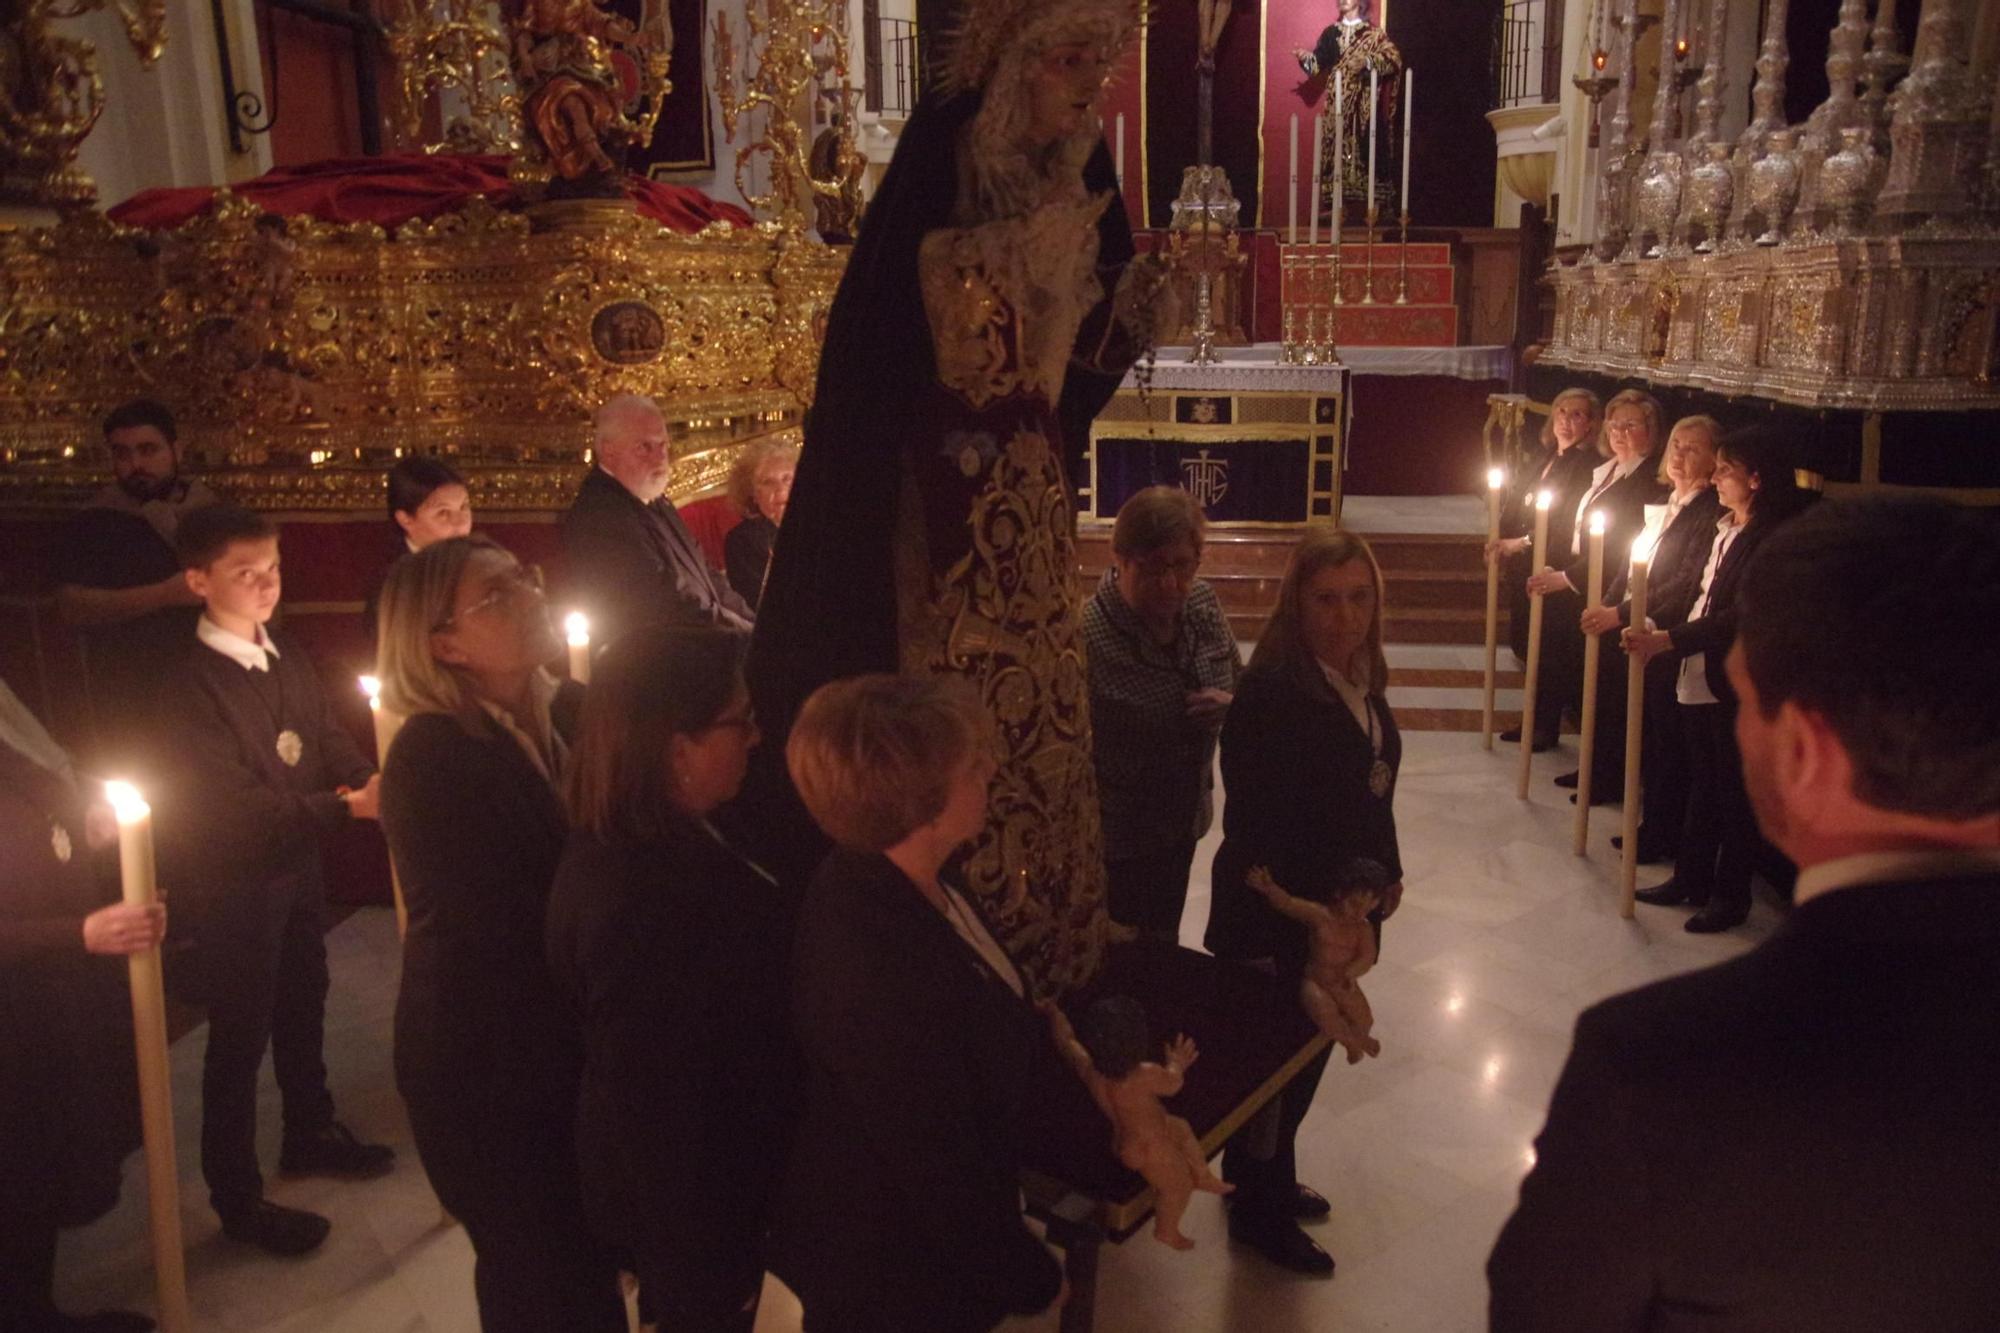
[[[2000,1329],[2000,528],[1816,506],[1728,673],[1796,911],[1576,1025],[1496,1331]]]

